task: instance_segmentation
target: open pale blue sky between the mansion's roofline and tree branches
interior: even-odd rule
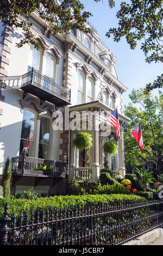
[[[116,70],[119,80],[128,88],[128,92],[123,94],[123,105],[130,102],[128,95],[132,89],[144,88],[147,83],[153,82],[157,76],[162,74],[162,63],[145,62],[145,54],[140,50],[141,43],[137,45],[135,50],[131,50],[126,39],[120,42],[114,42],[113,37],[106,38],[105,34],[109,28],[118,26],[116,12],[122,1],[118,0],[116,8],[110,9],[108,0],[96,3],[93,0],[81,0],[85,6],[85,11],[90,11],[93,17],[89,21],[96,28],[99,38],[110,48],[115,54],[118,61]],[[158,89],[153,90],[153,95],[158,93]]]

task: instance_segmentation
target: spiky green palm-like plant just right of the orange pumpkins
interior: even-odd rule
[[[139,181],[141,188],[145,192],[146,188],[148,187],[148,182],[151,182],[151,183],[154,182],[153,181],[154,177],[152,175],[153,172],[148,173],[148,170],[143,168],[141,168],[140,170],[136,168],[135,172],[136,172],[137,180]]]

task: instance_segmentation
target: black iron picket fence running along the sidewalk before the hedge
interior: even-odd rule
[[[0,245],[122,245],[163,224],[163,200],[21,211],[0,218]]]

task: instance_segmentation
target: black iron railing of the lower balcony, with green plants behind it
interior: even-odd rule
[[[68,159],[67,162],[60,162],[28,156],[13,157],[11,172],[13,175],[66,176]]]

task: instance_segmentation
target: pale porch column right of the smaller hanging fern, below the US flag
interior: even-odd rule
[[[126,168],[124,164],[124,139],[123,131],[121,130],[121,139],[118,139],[119,144],[119,174],[124,176],[126,174]]]

